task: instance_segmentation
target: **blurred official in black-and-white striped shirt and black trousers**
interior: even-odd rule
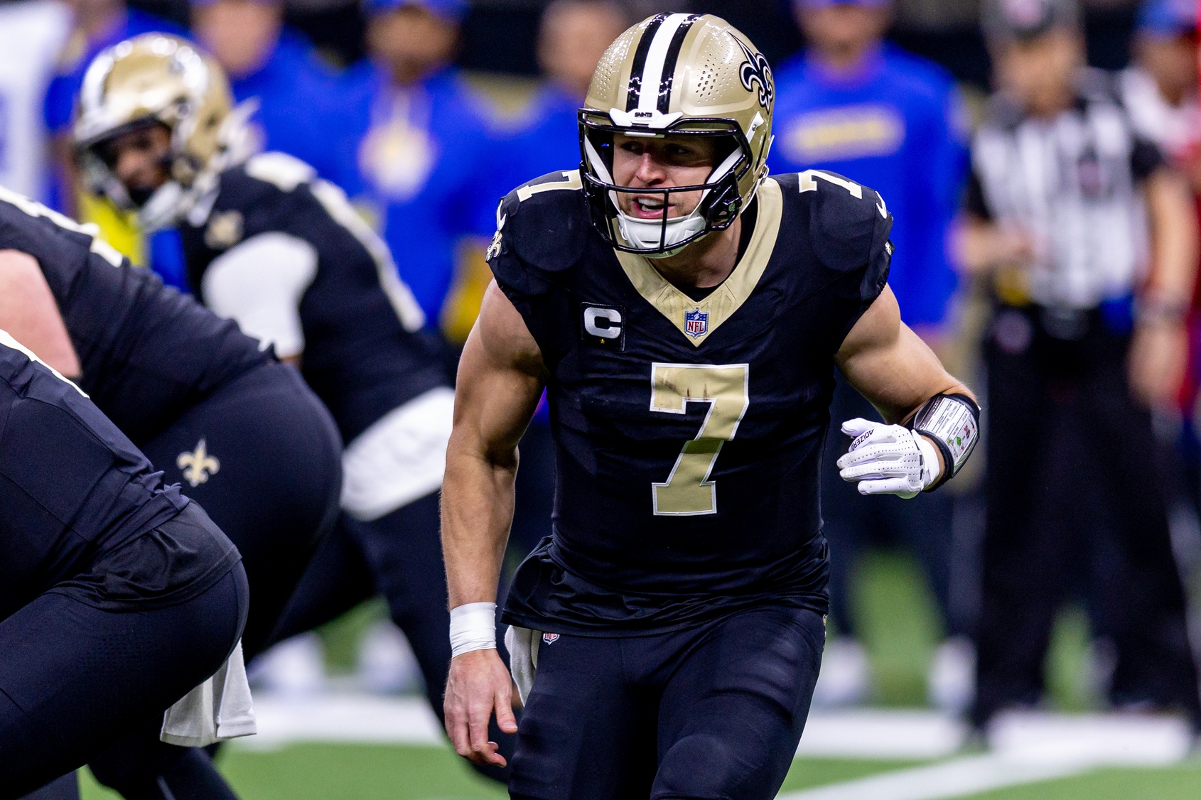
[[[1111,699],[1201,726],[1148,411],[1175,401],[1184,369],[1188,190],[1111,77],[1083,70],[1071,0],[997,0],[985,20],[998,92],[973,144],[962,239],[996,304],[973,722],[1039,702],[1056,613],[1104,547],[1119,566],[1104,587]]]

